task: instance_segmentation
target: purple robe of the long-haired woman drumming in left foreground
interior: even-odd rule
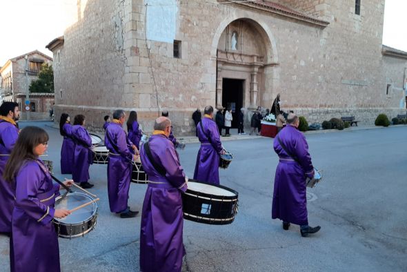
[[[60,271],[58,236],[52,224],[59,185],[52,184],[46,167],[41,161],[37,162],[25,162],[19,169],[14,183],[16,186],[16,204],[12,213],[14,258],[10,256],[14,271]]]

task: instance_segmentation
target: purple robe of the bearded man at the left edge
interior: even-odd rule
[[[4,168],[19,137],[17,126],[0,120],[0,233],[11,232],[11,215],[14,208],[14,190],[3,179]]]

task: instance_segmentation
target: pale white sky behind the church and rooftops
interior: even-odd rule
[[[406,10],[406,0],[386,0],[383,35],[386,46],[407,51]],[[75,23],[77,0],[0,0],[0,20],[0,66],[36,49],[52,57],[45,46]]]

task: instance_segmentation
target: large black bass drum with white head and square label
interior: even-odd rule
[[[182,194],[183,218],[203,224],[230,224],[237,214],[237,197],[237,191],[226,186],[190,179]]]

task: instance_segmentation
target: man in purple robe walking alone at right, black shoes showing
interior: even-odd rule
[[[279,164],[272,195],[272,219],[282,220],[284,230],[288,230],[290,223],[299,225],[301,236],[306,237],[321,227],[308,225],[306,177],[314,176],[314,166],[306,138],[297,130],[298,126],[299,118],[290,113],[286,128],[280,131],[274,141]]]

